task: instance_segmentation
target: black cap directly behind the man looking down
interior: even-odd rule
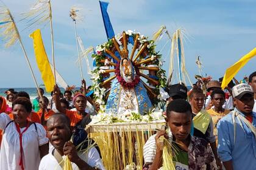
[[[180,98],[187,98],[187,87],[182,84],[173,84],[168,87],[168,95],[169,97],[178,96]]]

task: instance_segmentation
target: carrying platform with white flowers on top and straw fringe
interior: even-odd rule
[[[142,169],[144,144],[165,124],[160,111],[143,116],[99,114],[87,132],[98,144],[106,169]]]

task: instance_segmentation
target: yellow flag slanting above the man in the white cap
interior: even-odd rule
[[[221,88],[224,89],[227,84],[235,77],[236,73],[239,72],[239,70],[254,56],[256,55],[256,48],[251,50],[251,52],[244,55],[240,60],[238,60],[233,66],[229,67],[229,69],[226,70],[226,73],[224,75]]]

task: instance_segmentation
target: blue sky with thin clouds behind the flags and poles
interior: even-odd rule
[[[27,12],[36,1],[1,1],[9,7],[17,22],[35,77],[38,84],[41,84],[43,81],[35,63],[33,42],[29,34],[41,29],[44,46],[51,61],[50,25],[38,25],[24,30],[27,22],[20,21],[23,17],[21,13]],[[186,68],[193,82],[196,81],[194,75],[199,74],[195,64],[197,55],[201,56],[203,73],[212,76],[213,80],[218,80],[228,67],[256,47],[256,1],[253,0],[108,2],[108,15],[116,34],[123,30],[136,30],[151,39],[161,25],[166,25],[171,35],[177,29],[184,30]],[[99,1],[52,0],[51,4],[56,69],[69,85],[80,86],[74,25],[69,18],[69,10],[74,5],[82,9],[80,13],[84,18],[77,22],[77,34],[82,38],[85,48],[96,47],[107,41]],[[163,68],[166,72],[169,69],[171,46],[171,42],[167,41],[168,38],[163,36],[157,44],[157,50],[165,59]],[[89,61],[92,67],[93,61],[90,56]],[[236,78],[241,80],[244,75],[249,76],[256,70],[255,66],[256,57],[238,72]],[[16,43],[15,46],[6,49],[0,38],[0,68],[0,87],[35,87],[20,44]],[[90,85],[90,75],[87,73],[85,61],[82,63],[82,69],[85,80]]]

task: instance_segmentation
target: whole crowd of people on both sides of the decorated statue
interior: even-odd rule
[[[201,81],[191,90],[165,87],[166,126],[144,144],[143,169],[163,166],[162,137],[173,146],[176,169],[256,169],[256,72],[224,90],[221,81],[209,81],[206,94]],[[0,96],[0,169],[63,169],[66,157],[73,169],[105,169],[96,144],[80,147],[99,110],[87,90],[82,80],[76,92],[55,85],[51,100],[43,89],[32,102],[15,89]]]

